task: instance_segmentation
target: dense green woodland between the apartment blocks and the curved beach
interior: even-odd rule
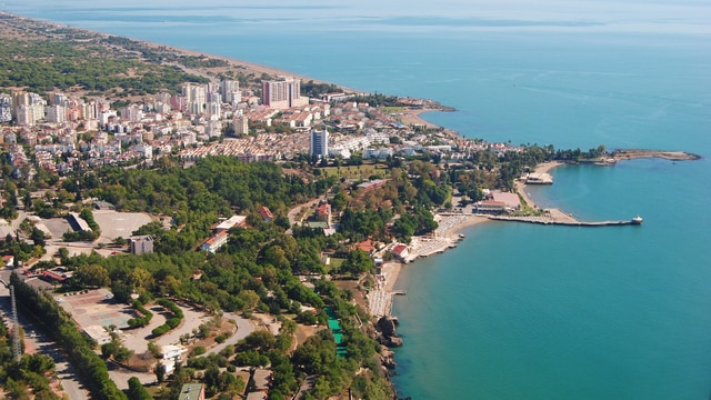
[[[206,382],[210,382],[210,393],[229,392],[237,383],[229,383],[229,378],[216,372],[220,366],[270,366],[274,373],[271,399],[290,398],[307,376],[316,379],[307,399],[324,399],[348,388],[364,399],[390,398],[391,389],[378,361],[380,346],[367,331],[357,328],[354,319],[358,314],[360,321],[368,321],[370,316],[353,306],[353,293],[320,279],[313,282],[312,290],[297,276],[329,273],[354,279],[372,268],[370,258],[349,244],[363,239],[364,233],[372,232],[387,241],[395,236],[409,240],[411,234],[437,227],[423,204],[441,206],[449,197],[449,186],[434,183],[434,169],[422,162],[412,163],[408,170],[397,169],[394,174],[388,186],[363,192],[336,177],[311,174],[307,179],[286,174],[276,163],[243,163],[222,157],[200,160],[189,169],[163,162],[156,170],[107,167],[78,173],[63,181],[62,191],[74,193],[76,198],[112,202],[118,210],[150,212],[169,219],[171,228],[166,230],[163,223],[153,222],[133,232],[153,237],[153,253],[104,258],[97,253],[70,257],[60,251],[61,263],[74,272],[70,287],[108,287],[120,301],[130,302],[131,294],[137,293],[141,304],[166,298],[182,299],[210,312],[268,312],[280,319],[282,332],[277,337],[256,334],[223,354],[204,361],[191,359],[171,378],[171,391],[166,398],[179,389],[176,382],[190,381],[199,373],[204,373]],[[342,229],[330,237],[306,227],[287,234],[288,210],[323,196],[331,197],[336,212],[346,212]],[[44,199],[36,199],[31,204],[43,204],[40,208],[44,211],[52,207]],[[272,210],[273,221],[259,217],[256,210],[260,206]],[[388,228],[395,211],[402,214],[401,222],[395,223],[402,226],[400,233]],[[248,216],[249,228],[232,228],[227,246],[214,254],[198,251],[219,218],[233,213]],[[92,220],[88,211],[82,211],[82,216]],[[16,241],[8,244],[12,243]],[[341,257],[343,262],[338,267],[324,266],[323,252]],[[191,279],[196,271],[200,271],[200,280]],[[43,300],[38,301],[47,307]],[[316,313],[304,311],[302,304],[313,307]],[[328,330],[310,337],[292,353],[286,351],[291,347],[296,323],[326,326],[326,307],[341,321],[347,356],[337,357]],[[161,327],[159,333],[177,323]],[[107,349],[107,357],[117,357],[117,349],[120,347]],[[359,370],[367,373],[356,378]],[[94,373],[102,372],[88,371],[87,376]],[[213,378],[208,380],[208,376]]]

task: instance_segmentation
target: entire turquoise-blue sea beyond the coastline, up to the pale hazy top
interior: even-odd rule
[[[711,398],[711,3],[3,0],[0,9],[457,109],[468,138],[698,153],[563,166],[579,219],[489,222],[404,268],[393,383],[412,399]]]

